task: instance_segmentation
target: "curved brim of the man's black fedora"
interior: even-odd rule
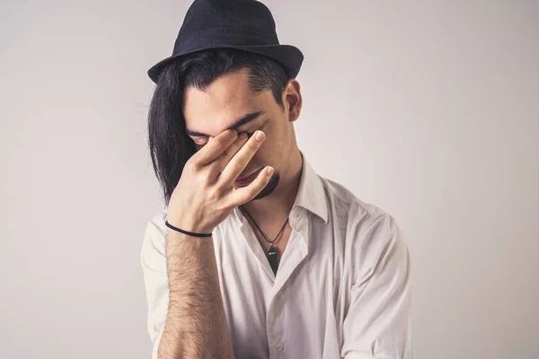
[[[164,67],[172,64],[172,62],[178,61],[181,57],[185,57],[189,54],[192,54],[193,52],[205,50],[208,48],[237,48],[247,52],[252,52],[254,54],[273,58],[279,64],[281,64],[281,66],[284,67],[289,78],[296,78],[296,75],[299,73],[299,69],[301,68],[304,59],[301,50],[291,45],[278,44],[235,46],[218,44],[214,46],[205,46],[203,48],[191,48],[179,54],[172,55],[171,57],[166,57],[148,70],[148,76],[150,76],[154,83],[157,83],[157,80],[159,79],[159,74],[161,74]]]

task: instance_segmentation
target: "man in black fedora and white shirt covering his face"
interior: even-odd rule
[[[412,357],[397,224],[297,147],[302,61],[265,5],[196,0],[148,71],[166,202],[140,258],[153,358]]]

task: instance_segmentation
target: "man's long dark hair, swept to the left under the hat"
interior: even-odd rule
[[[183,57],[159,75],[148,113],[148,144],[166,206],[185,163],[195,153],[181,110],[184,90],[195,87],[204,91],[217,77],[243,68],[249,70],[252,92],[270,89],[284,109],[281,95],[288,77],[284,68],[270,57],[234,48],[212,48]]]

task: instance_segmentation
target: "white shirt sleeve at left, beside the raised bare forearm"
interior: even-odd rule
[[[164,221],[166,212],[155,215],[146,225],[140,251],[146,290],[147,329],[152,342],[152,359],[157,359],[157,348],[163,336],[168,311],[169,286],[164,251]]]

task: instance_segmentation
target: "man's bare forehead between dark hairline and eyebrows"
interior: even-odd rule
[[[252,92],[247,70],[225,74],[205,91],[185,89],[183,116],[188,129],[216,136],[245,114],[266,109],[273,99],[270,90]]]

